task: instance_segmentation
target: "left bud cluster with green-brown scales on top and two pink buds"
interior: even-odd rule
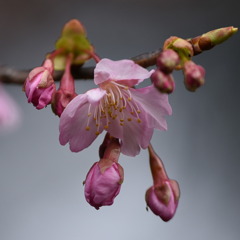
[[[81,65],[92,57],[95,57],[94,49],[82,24],[75,19],[66,23],[56,42],[56,50],[48,54],[43,65],[34,68],[25,81],[23,90],[28,102],[37,109],[51,104],[53,112],[60,117],[67,104],[77,96],[71,65]],[[64,71],[58,90],[54,70]]]

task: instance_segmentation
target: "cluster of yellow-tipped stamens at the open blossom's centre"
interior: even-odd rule
[[[91,104],[89,105],[87,131],[90,130],[89,121],[91,117],[93,117],[96,122],[96,135],[100,133],[99,128],[101,124],[104,124],[104,128],[108,129],[109,124],[115,119],[119,120],[120,126],[124,126],[126,120],[129,122],[136,120],[138,123],[141,123],[139,117],[141,111],[137,103],[133,100],[128,86],[110,81],[102,84],[101,88],[106,90],[106,95],[101,99],[95,109],[91,109],[92,106]],[[130,113],[131,116],[129,116],[130,114],[128,113]]]

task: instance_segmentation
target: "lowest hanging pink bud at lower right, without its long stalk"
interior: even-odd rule
[[[166,180],[162,184],[154,185],[147,190],[145,199],[152,212],[167,222],[174,216],[178,206],[178,183]]]

